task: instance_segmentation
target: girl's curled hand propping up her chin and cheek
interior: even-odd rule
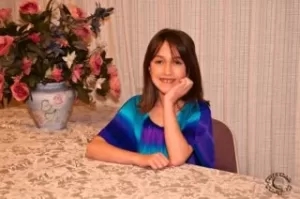
[[[164,101],[166,103],[174,104],[177,100],[183,97],[193,86],[192,80],[185,77],[180,80],[180,83],[175,85],[171,90],[169,90],[164,96]]]

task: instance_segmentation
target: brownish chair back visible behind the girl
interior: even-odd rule
[[[230,129],[216,119],[213,119],[212,127],[215,141],[215,168],[237,173],[238,162],[235,154],[235,143]]]

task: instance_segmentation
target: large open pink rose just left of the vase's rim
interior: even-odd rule
[[[24,101],[29,95],[29,88],[27,84],[20,82],[20,77],[15,78],[15,82],[10,86],[13,97],[21,102]]]

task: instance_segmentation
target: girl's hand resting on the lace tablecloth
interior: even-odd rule
[[[169,160],[162,153],[151,155],[141,155],[137,165],[140,167],[151,167],[152,169],[162,169],[169,165]]]

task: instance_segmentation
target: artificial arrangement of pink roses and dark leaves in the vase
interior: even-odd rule
[[[41,11],[37,0],[23,1],[20,22],[0,9],[0,102],[26,101],[38,83],[66,82],[79,100],[90,103],[91,91],[120,96],[112,58],[96,45],[100,27],[113,8],[96,4],[87,16],[76,6],[49,0]]]

